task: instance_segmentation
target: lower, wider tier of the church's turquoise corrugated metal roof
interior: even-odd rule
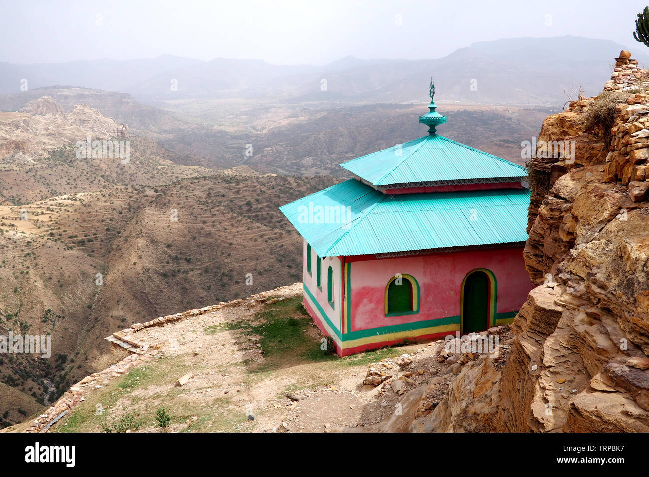
[[[527,189],[386,195],[349,179],[280,210],[326,257],[524,242],[529,205]]]

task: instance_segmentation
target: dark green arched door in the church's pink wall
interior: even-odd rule
[[[484,331],[493,323],[496,280],[489,270],[471,271],[462,283],[461,334]]]

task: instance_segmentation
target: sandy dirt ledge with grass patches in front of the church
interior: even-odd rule
[[[404,393],[430,382],[431,408],[445,395],[452,373],[438,362],[441,340],[339,358],[320,349],[299,284],[260,295],[265,303],[141,330],[145,342],[162,341],[155,358],[84,394],[51,432],[331,432],[384,421]],[[369,365],[385,382],[364,383]],[[171,416],[165,429],[160,408]]]

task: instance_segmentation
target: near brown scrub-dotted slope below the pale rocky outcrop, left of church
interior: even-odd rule
[[[297,281],[300,239],[277,206],[333,183],[230,172],[0,207],[0,334],[53,336],[51,360],[12,355],[0,381],[43,404],[96,371],[114,330]]]

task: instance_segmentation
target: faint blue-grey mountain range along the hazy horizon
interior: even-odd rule
[[[635,46],[635,45],[633,45]],[[140,101],[246,98],[403,103],[421,101],[433,77],[445,101],[472,104],[556,104],[582,86],[593,95],[611,71],[611,55],[627,49],[574,36],[472,43],[444,58],[363,60],[325,66],[278,66],[263,60],[210,61],[163,55],[146,60],[0,63],[0,93],[66,85],[128,92]],[[644,49],[633,57],[649,62]],[[578,58],[578,59],[576,59]]]

